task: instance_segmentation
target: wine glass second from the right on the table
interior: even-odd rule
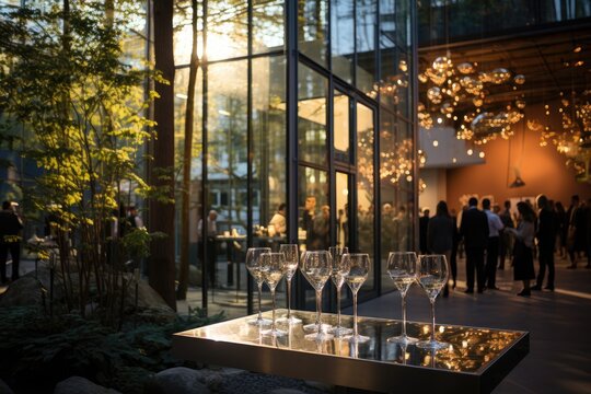
[[[387,338],[387,341],[405,345],[416,344],[417,338],[406,335],[406,293],[410,285],[417,281],[417,254],[415,252],[390,253],[390,256],[387,256],[387,274],[401,292],[403,313],[402,334]]]

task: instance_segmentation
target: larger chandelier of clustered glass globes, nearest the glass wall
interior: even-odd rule
[[[498,136],[511,137],[511,126],[523,118],[525,101],[518,90],[525,77],[513,76],[503,67],[479,71],[476,62],[454,66],[450,57],[441,56],[418,79],[427,85],[417,107],[419,125],[425,129],[453,120],[459,139],[480,144]],[[487,99],[503,91],[513,99],[500,109],[491,107]]]

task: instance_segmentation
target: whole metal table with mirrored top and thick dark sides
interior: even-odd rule
[[[278,310],[278,316],[286,310]],[[292,311],[303,324],[315,321],[314,312]],[[270,318],[270,312],[264,313]],[[254,316],[254,315],[253,315]],[[173,355],[181,359],[299,378],[373,392],[489,393],[529,352],[526,332],[438,325],[437,337],[448,349],[422,350],[387,343],[398,335],[401,322],[359,317],[359,332],[371,338],[364,344],[346,339],[320,343],[304,338],[302,324],[288,327],[286,337],[262,336],[247,321],[235,318],[189,329],[173,336]],[[323,314],[335,324],[336,315]],[[352,316],[343,316],[345,326]],[[426,339],[430,324],[407,323],[407,334]]]

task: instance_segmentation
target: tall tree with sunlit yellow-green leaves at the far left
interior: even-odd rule
[[[158,197],[141,165],[154,126],[146,114],[157,95],[146,86],[167,83],[123,51],[138,39],[131,30],[146,21],[139,4],[84,1],[43,12],[0,7],[0,143],[13,144],[10,125],[31,136],[20,141],[20,153],[42,175],[26,195],[35,211],[55,218],[62,277],[71,277],[71,267],[81,271],[79,286],[68,288],[67,309],[84,314],[97,303],[112,324],[123,264],[129,255],[146,256],[152,235],[113,237],[116,212],[130,194]],[[109,255],[114,250],[120,253]],[[91,277],[94,299],[84,279]]]

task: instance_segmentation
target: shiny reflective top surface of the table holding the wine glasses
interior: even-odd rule
[[[286,313],[287,310],[278,310],[278,315]],[[401,333],[401,321],[359,317],[359,332],[369,336],[371,338],[369,341],[350,343],[340,338],[316,341],[305,339],[306,333],[302,328],[303,325],[314,322],[315,314],[303,311],[292,311],[292,314],[301,318],[303,324],[282,326],[282,329],[288,331],[288,335],[279,338],[262,335],[258,327],[246,323],[250,316],[190,329],[178,335],[447,371],[479,372],[525,334],[491,328],[437,325],[438,337],[450,346],[431,351],[419,349],[414,345],[405,347],[387,343],[386,338]],[[268,317],[270,312],[265,312],[264,315]],[[326,314],[326,323],[334,325],[336,318],[336,315]],[[352,326],[352,316],[344,315],[343,325]],[[408,322],[406,329],[408,335],[419,339],[428,339],[430,336],[429,323]]]

